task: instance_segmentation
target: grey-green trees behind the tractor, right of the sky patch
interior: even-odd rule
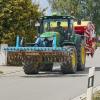
[[[73,15],[84,20],[92,20],[100,33],[100,0],[48,0],[52,11],[60,14]]]

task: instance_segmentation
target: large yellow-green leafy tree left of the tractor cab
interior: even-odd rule
[[[14,44],[16,35],[31,42],[40,15],[38,5],[31,0],[0,0],[0,43]]]

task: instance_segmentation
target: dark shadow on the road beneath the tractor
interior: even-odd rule
[[[62,74],[60,70],[53,70],[52,72],[40,72],[37,75],[24,75],[24,78],[56,78],[56,77],[85,77],[88,76],[90,67],[87,67],[85,71],[78,71],[76,74]],[[100,67],[96,67],[96,71],[100,71]]]

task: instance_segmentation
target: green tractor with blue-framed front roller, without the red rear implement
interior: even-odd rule
[[[75,73],[85,69],[85,43],[73,27],[71,16],[44,16],[39,20],[38,37],[35,43],[5,48],[11,54],[10,60],[20,55],[25,74],[39,71],[52,71],[53,64],[59,63],[63,74]],[[18,58],[17,58],[18,59]]]

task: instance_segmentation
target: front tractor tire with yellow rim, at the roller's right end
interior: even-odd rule
[[[74,74],[77,71],[77,53],[75,48],[72,48],[70,55],[70,61],[66,61],[61,65],[63,74]]]

